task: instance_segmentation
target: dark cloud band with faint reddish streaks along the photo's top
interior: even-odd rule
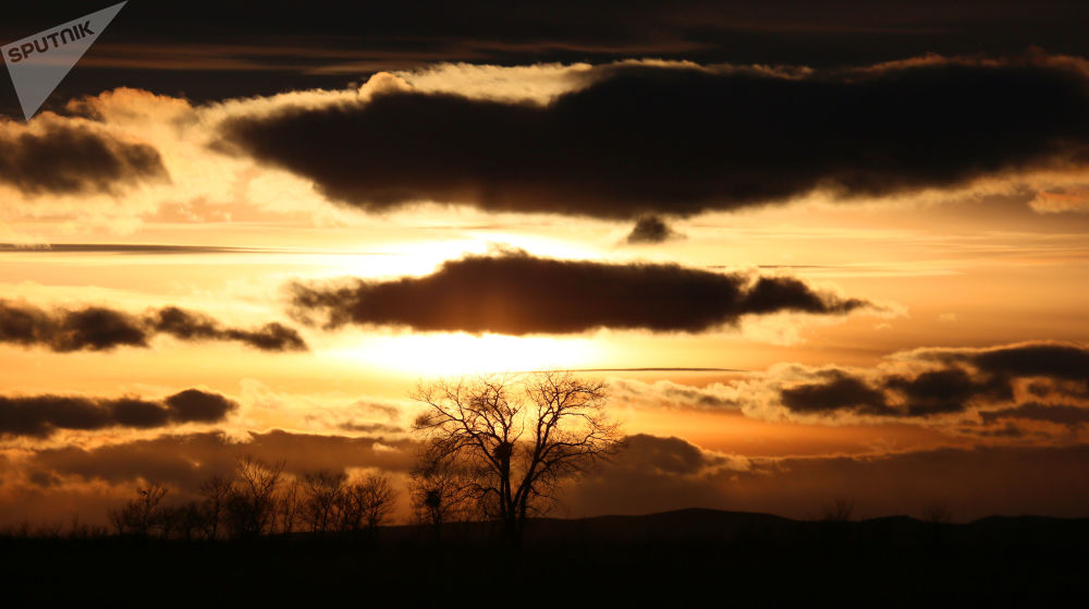
[[[439,61],[518,65],[653,57],[829,66],[927,52],[1008,54],[1031,45],[1089,56],[1081,27],[1089,10],[1065,0],[558,0],[547,11],[493,0],[306,7],[255,13],[245,3],[219,3],[216,20],[208,20],[178,0],[130,3],[118,16],[121,26],[81,61],[96,69],[72,71],[51,99],[63,103],[130,86],[219,100],[335,88],[360,74]],[[52,27],[58,15],[51,5],[27,4],[0,22],[0,39]],[[17,113],[14,92],[0,89],[2,101]]]

